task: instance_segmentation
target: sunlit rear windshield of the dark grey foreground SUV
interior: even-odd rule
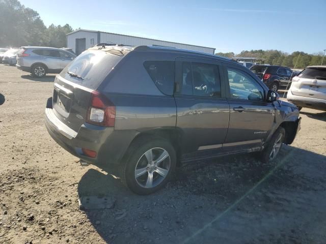
[[[60,73],[65,79],[96,89],[123,56],[100,50],[85,51]]]

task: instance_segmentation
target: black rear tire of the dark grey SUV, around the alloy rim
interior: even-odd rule
[[[149,161],[145,155],[145,153],[147,153],[147,151],[149,150],[151,150],[151,154],[153,155],[152,164],[156,164],[157,158],[155,159],[155,157],[159,157],[160,151],[162,152],[167,151],[169,158],[165,158],[160,163],[166,165],[169,164],[169,167],[165,167],[162,164],[149,165],[148,163]],[[169,141],[161,138],[147,137],[132,143],[132,145],[129,147],[127,151],[126,156],[122,161],[123,162],[121,162],[120,164],[119,174],[123,184],[125,184],[135,194],[149,195],[163,188],[170,180],[172,174],[175,172],[176,153],[174,147],[171,145]],[[141,167],[139,167],[140,164],[142,164]],[[155,167],[155,168],[151,169],[148,166]],[[167,170],[166,168],[168,168],[165,177],[161,176],[159,173],[156,172],[157,169],[156,166],[158,169]],[[146,168],[147,171],[146,172],[142,171],[145,173],[141,174],[139,177],[136,177],[135,176],[135,170],[137,169],[136,167],[139,168],[140,170]],[[150,178],[149,177],[150,172],[152,175],[152,184],[150,186],[152,187],[146,187],[147,182]],[[141,182],[142,180],[144,185],[142,185]],[[157,183],[157,185],[155,185],[155,182]]]

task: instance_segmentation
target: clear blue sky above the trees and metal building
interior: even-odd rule
[[[45,25],[70,24],[240,53],[326,49],[326,0],[20,0]]]

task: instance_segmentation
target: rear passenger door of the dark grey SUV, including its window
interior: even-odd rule
[[[183,153],[222,148],[229,126],[229,103],[221,82],[220,63],[196,58],[176,59],[177,129]]]

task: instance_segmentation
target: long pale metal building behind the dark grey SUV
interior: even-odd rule
[[[116,43],[130,46],[145,45],[175,47],[199,52],[206,52],[210,54],[214,54],[215,52],[215,48],[212,47],[202,47],[107,32],[89,31],[87,29],[78,29],[77,31],[67,34],[67,47],[71,48],[77,55],[82,53],[87,48],[90,48],[98,43]]]

